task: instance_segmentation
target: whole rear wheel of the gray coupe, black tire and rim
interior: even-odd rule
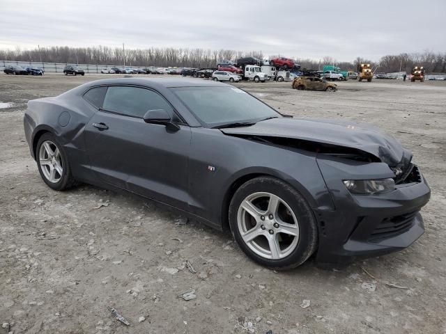
[[[46,133],[39,138],[36,161],[40,176],[49,188],[61,191],[75,184],[66,152],[53,134]]]

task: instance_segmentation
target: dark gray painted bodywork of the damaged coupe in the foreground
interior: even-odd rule
[[[156,90],[174,106],[171,117],[177,120],[178,131],[100,111],[82,98],[89,88],[103,85]],[[209,129],[169,90],[176,86],[225,85],[196,79],[105,79],[59,97],[32,100],[24,116],[31,154],[34,157],[40,134],[52,132],[66,149],[77,180],[137,193],[220,230],[227,228],[227,209],[236,186],[256,175],[272,175],[300,191],[312,207],[318,221],[319,262],[388,253],[408,246],[424,231],[417,214],[410,230],[381,243],[368,239],[384,218],[420,210],[426,204],[430,190],[424,178],[380,196],[352,196],[342,183],[394,177],[390,166],[410,154],[393,138],[362,125],[289,118],[252,127]],[[58,120],[67,112],[70,119],[62,127]],[[93,127],[101,122],[107,130]],[[263,143],[249,138],[252,135],[355,148],[374,154],[381,162],[329,157],[274,141]]]

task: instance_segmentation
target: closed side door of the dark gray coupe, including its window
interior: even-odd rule
[[[151,109],[166,110],[179,129],[144,122],[144,114]],[[160,93],[109,86],[85,134],[91,168],[102,182],[187,209],[190,127],[180,122]]]

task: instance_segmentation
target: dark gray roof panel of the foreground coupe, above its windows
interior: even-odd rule
[[[99,85],[137,85],[153,88],[226,86],[219,82],[194,78],[114,78],[89,82],[89,86]]]

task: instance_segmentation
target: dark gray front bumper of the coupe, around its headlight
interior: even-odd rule
[[[318,262],[335,265],[355,257],[392,253],[410,246],[424,233],[420,209],[429,201],[431,191],[417,166],[412,165],[407,182],[376,196],[351,194],[339,176],[344,180],[352,175],[357,180],[392,177],[387,165],[346,165],[336,159],[318,159],[318,166],[335,207],[314,210],[319,227]]]

